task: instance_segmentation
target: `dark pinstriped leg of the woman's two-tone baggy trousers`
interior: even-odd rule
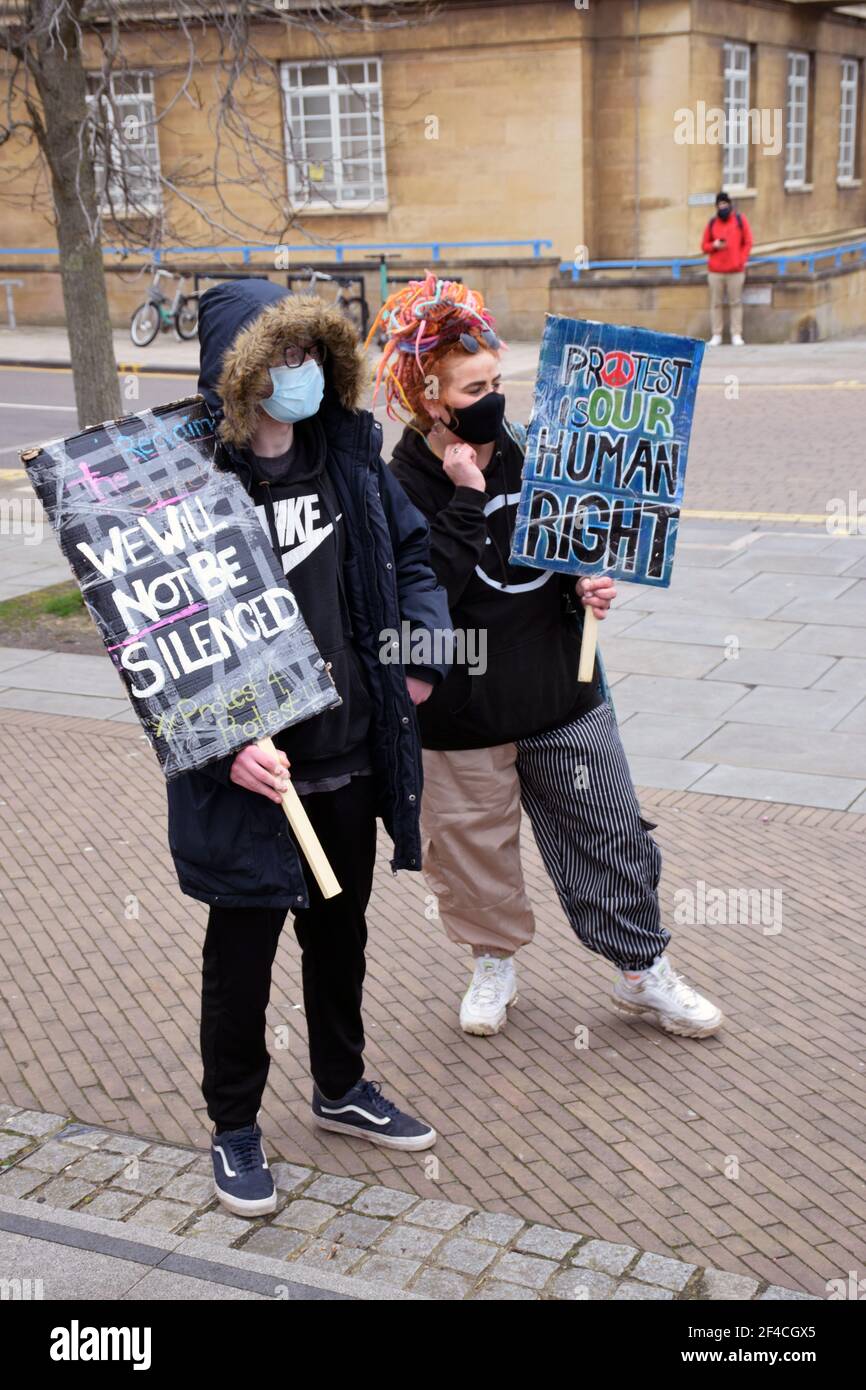
[[[562,728],[517,742],[520,798],[574,933],[623,970],[664,951],[662,853],[641,820],[606,702]]]

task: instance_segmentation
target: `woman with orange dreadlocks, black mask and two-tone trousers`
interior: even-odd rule
[[[582,612],[605,617],[613,581],[509,560],[525,431],[505,417],[493,318],[481,295],[428,274],[388,299],[375,329],[388,335],[377,391],[406,423],[391,468],[430,523],[455,632],[487,635],[487,667],[455,662],[417,709],[423,869],[445,931],[474,956],[460,1027],[498,1033],[517,998],[514,955],[535,930],[523,806],[573,930],[616,966],[614,1008],[706,1037],[721,1013],[664,955],[660,852],[601,663],[577,680]]]

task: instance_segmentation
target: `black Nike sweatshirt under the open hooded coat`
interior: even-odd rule
[[[324,438],[295,427],[292,448],[265,459],[246,450],[253,502],[325,662],[342,705],[277,734],[295,783],[334,785],[370,767],[373,701],[345,596],[345,521],[327,471]]]

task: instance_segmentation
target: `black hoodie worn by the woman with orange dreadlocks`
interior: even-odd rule
[[[578,719],[601,703],[578,684],[581,623],[574,578],[509,562],[523,450],[507,424],[485,468],[487,488],[455,488],[424,435],[407,428],[391,470],[427,517],[431,562],[457,632],[487,632],[487,670],[455,664],[418,706],[424,748],[491,748]],[[481,655],[475,648],[475,656]],[[470,656],[468,644],[467,652]],[[481,662],[477,662],[481,666]]]

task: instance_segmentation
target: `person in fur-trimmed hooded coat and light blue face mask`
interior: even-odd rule
[[[314,1123],[402,1150],[436,1137],[364,1079],[361,992],[377,817],[393,841],[392,869],[420,869],[413,706],[445,671],[382,662],[381,632],[406,623],[430,637],[449,617],[427,523],[382,463],[381,427],[359,409],[366,363],[339,310],[268,281],[228,281],[202,296],[199,339],[199,391],[218,421],[214,464],[256,503],[341,696],[277,734],[277,760],[250,742],[168,783],[181,888],[210,906],[202,1088],[215,1191],[229,1211],[257,1216],[277,1201],[257,1113],[271,966],[289,910]],[[281,808],[289,777],[341,884],[334,898],[304,874]]]

